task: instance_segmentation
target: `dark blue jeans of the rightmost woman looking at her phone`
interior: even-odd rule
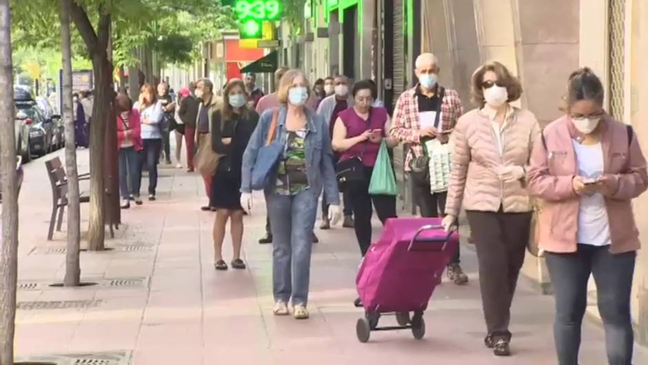
[[[559,365],[578,365],[580,328],[587,307],[587,281],[594,275],[598,311],[610,365],[631,365],[634,333],[630,294],[636,253],[613,255],[609,246],[578,245],[576,253],[547,253],[554,286],[554,339]]]

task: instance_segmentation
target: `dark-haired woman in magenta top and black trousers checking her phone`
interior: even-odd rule
[[[369,194],[369,181],[381,142],[385,139],[389,148],[398,144],[387,137],[390,124],[387,109],[372,106],[373,90],[374,85],[369,81],[356,82],[352,90],[354,104],[338,115],[333,129],[333,149],[341,153],[340,161],[361,157],[365,167],[365,180],[346,186],[355,217],[354,230],[363,257],[372,241],[372,202],[383,224],[387,218],[396,217],[395,195]],[[361,306],[358,299],[355,304]]]

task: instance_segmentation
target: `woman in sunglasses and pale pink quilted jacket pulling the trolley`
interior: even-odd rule
[[[502,63],[478,68],[472,92],[478,108],[454,128],[443,225],[449,230],[460,209],[466,210],[479,263],[484,343],[495,355],[507,356],[510,308],[531,226],[525,170],[540,127],[529,110],[510,104],[520,98],[522,86]]]

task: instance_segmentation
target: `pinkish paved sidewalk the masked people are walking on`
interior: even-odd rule
[[[463,265],[471,282],[463,287],[444,282],[437,288],[425,313],[422,341],[401,331],[372,333],[368,344],[358,342],[355,325],[362,312],[352,302],[359,252],[353,230],[339,226],[316,230],[321,243],[312,257],[311,319],[273,317],[272,246],[256,243],[265,229],[261,195],[255,193],[252,215],[245,217],[248,270],[217,273],[214,213],[199,211],[205,203],[202,181],[163,165],[158,201],[123,211],[125,224],[107,241],[114,250],[81,254],[83,281],[99,285],[49,288],[63,278],[65,235],[45,240],[51,204],[45,159],[26,166],[20,197],[19,359],[105,365],[556,363],[553,300],[524,280],[514,302],[514,356],[496,358],[484,348],[470,246],[463,247]],[[79,151],[79,170],[87,166],[88,153]],[[83,206],[82,216],[87,219],[87,214]],[[229,237],[224,248],[229,262]],[[603,331],[591,322],[583,328],[581,364],[607,364]],[[645,348],[637,346],[634,364],[648,364]]]

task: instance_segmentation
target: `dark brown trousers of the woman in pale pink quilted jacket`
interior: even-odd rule
[[[510,339],[511,304],[529,242],[531,213],[469,210],[466,215],[477,248],[487,332]]]

